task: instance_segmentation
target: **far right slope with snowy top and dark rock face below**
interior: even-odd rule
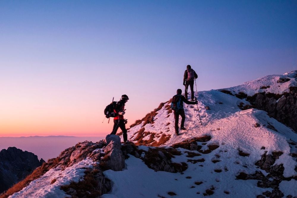
[[[297,131],[297,70],[284,75],[269,75],[220,91],[245,98],[254,108],[266,111]]]

